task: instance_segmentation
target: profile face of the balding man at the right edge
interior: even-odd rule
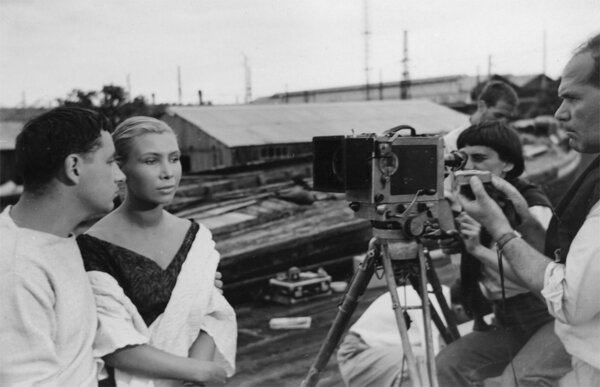
[[[563,70],[558,88],[562,103],[554,116],[582,153],[600,152],[600,88],[587,82],[594,66],[589,52],[575,55]]]

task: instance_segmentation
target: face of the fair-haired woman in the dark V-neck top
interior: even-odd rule
[[[121,170],[127,190],[134,198],[168,204],[181,180],[180,152],[173,133],[147,133],[130,140],[130,150]]]

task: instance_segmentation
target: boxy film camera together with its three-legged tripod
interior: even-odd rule
[[[402,135],[405,131],[408,134]],[[456,233],[444,198],[444,177],[447,169],[462,168],[467,156],[456,152],[445,157],[441,136],[417,135],[407,125],[381,136],[314,137],[313,146],[314,189],[345,193],[355,216],[371,222],[373,238],[302,386],[317,385],[369,280],[376,269],[383,268],[412,385],[437,387],[431,321],[446,343],[458,339],[459,333],[423,241]],[[408,339],[396,279],[412,285],[422,300],[425,367],[418,366]],[[444,320],[429,301],[428,283]],[[398,364],[402,360],[398,359]]]

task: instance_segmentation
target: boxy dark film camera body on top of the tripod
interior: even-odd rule
[[[343,192],[356,216],[376,228],[401,227],[411,236],[423,231],[423,222],[415,219],[439,217],[446,167],[459,169],[466,162],[458,152],[444,157],[441,136],[417,135],[407,125],[381,136],[314,137],[313,146],[316,190]]]

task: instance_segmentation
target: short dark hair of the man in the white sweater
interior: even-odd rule
[[[39,191],[73,153],[89,153],[100,146],[101,131],[110,121],[93,110],[58,107],[25,124],[15,144],[16,172],[26,191]]]

